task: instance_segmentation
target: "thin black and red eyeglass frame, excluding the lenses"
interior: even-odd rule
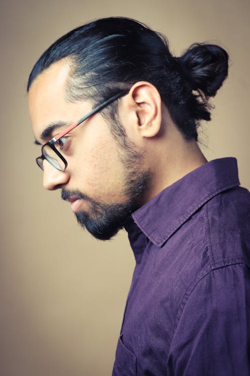
[[[43,165],[42,165],[42,163],[43,163],[43,160],[45,159],[48,163],[51,164],[51,166],[53,166],[57,170],[59,170],[59,171],[65,171],[65,169],[67,168],[67,161],[63,157],[63,155],[56,149],[56,147],[54,146],[54,143],[56,141],[58,141],[61,137],[65,136],[67,133],[69,133],[72,129],[76,128],[78,125],[80,125],[81,123],[83,123],[83,121],[85,121],[86,119],[88,119],[90,116],[96,114],[97,112],[99,112],[100,110],[102,110],[104,107],[106,107],[108,104],[114,102],[116,99],[119,99],[119,98],[123,97],[127,93],[128,93],[128,91],[125,91],[125,92],[123,91],[123,92],[119,92],[118,94],[113,95],[109,99],[105,100],[103,103],[99,104],[97,107],[93,108],[86,115],[84,115],[83,117],[81,117],[80,120],[77,123],[74,123],[73,125],[70,125],[68,128],[64,129],[62,132],[60,132],[59,134],[57,134],[56,136],[54,136],[53,138],[51,138],[48,142],[44,143],[42,145],[42,147],[41,147],[41,155],[38,156],[35,159],[38,167],[40,167],[40,169],[43,171]],[[62,160],[62,162],[65,165],[64,169],[60,169],[60,168],[56,167],[49,159],[46,158],[46,156],[43,154],[43,149],[44,149],[45,146],[49,146],[55,152],[55,154],[58,155],[58,157]]]

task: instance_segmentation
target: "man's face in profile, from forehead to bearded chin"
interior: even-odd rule
[[[66,99],[68,64],[61,60],[32,83],[28,101],[35,139],[43,144],[91,110],[87,102]],[[44,129],[51,132],[41,138]],[[99,114],[87,119],[63,138],[65,171],[43,161],[43,186],[62,190],[78,222],[98,239],[110,239],[137,209],[149,182],[142,153],[130,143],[121,148]]]

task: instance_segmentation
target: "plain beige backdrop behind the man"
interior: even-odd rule
[[[0,375],[110,375],[134,260],[121,232],[93,240],[59,192],[45,192],[26,106],[32,65],[56,38],[105,16],[138,19],[176,55],[220,41],[229,78],[201,139],[209,159],[236,156],[250,188],[248,0],[2,0],[0,111]]]

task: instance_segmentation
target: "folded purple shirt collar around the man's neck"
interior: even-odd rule
[[[166,187],[132,218],[146,237],[161,247],[205,202],[237,185],[236,159],[214,159]]]

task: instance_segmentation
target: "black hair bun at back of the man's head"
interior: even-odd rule
[[[192,44],[177,61],[192,90],[201,90],[207,98],[214,97],[227,77],[228,54],[216,45]]]

